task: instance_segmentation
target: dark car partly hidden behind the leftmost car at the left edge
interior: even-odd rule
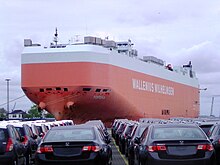
[[[34,135],[31,128],[27,124],[15,123],[14,127],[18,130],[21,136],[24,137],[23,144],[25,146],[26,164],[34,163],[35,152],[37,151],[37,135]]]

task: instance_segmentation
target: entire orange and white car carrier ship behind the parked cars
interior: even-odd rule
[[[39,109],[57,120],[198,117],[199,83],[188,65],[166,65],[138,57],[130,40],[84,37],[83,42],[50,47],[24,40],[21,84]]]

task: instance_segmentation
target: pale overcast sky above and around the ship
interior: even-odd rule
[[[156,56],[175,65],[192,61],[201,91],[201,114],[210,114],[211,98],[220,95],[219,0],[1,0],[0,108],[6,109],[6,78],[10,100],[23,96],[21,52],[23,40],[48,46],[55,27],[59,41],[76,35],[131,39],[139,56]],[[10,109],[29,110],[26,97]],[[214,114],[220,115],[220,97]]]

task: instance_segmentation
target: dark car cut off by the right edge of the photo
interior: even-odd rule
[[[220,123],[212,126],[208,136],[215,148],[217,163],[220,164]]]

